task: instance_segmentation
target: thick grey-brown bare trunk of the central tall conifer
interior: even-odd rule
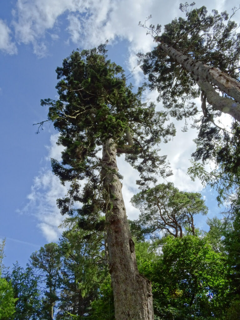
[[[153,320],[151,283],[139,274],[122,184],[117,176],[116,145],[103,143],[102,179],[106,192],[108,261],[116,320]]]

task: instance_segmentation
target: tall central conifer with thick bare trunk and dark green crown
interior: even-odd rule
[[[125,154],[138,169],[144,188],[157,174],[169,174],[158,144],[175,129],[164,128],[165,113],[144,103],[141,88],[132,92],[123,69],[107,60],[105,45],[73,52],[56,72],[62,78],[56,86],[59,100],[45,99],[42,105],[49,106],[49,120],[60,132],[58,144],[65,147],[61,163],[52,159],[53,172],[62,183],[71,182],[58,206],[62,214],[77,212],[82,228],[106,227],[116,319],[153,319],[151,284],[137,269],[116,155]],[[81,209],[74,209],[75,202],[83,204]],[[99,223],[102,213],[105,226]]]

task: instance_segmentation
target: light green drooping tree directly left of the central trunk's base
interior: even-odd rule
[[[98,297],[101,279],[106,276],[103,235],[75,228],[63,232],[59,246],[62,267],[56,319],[71,319],[70,315],[82,319]]]

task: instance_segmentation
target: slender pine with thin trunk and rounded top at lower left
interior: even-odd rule
[[[61,267],[60,251],[56,243],[45,244],[39,251],[31,254],[31,266],[40,276],[45,298],[43,300],[42,313],[44,320],[52,320],[54,307],[58,301],[57,289],[59,286],[59,272]],[[48,290],[47,290],[48,289]]]

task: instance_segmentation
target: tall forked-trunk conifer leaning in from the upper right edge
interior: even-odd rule
[[[195,3],[180,4],[186,18],[179,17],[164,26],[150,25],[156,47],[146,54],[139,53],[139,62],[148,85],[159,92],[158,100],[177,120],[188,118],[199,130],[195,140],[194,160],[216,160],[223,170],[219,174],[239,176],[240,121],[240,34],[233,17],[240,9],[234,7],[229,15]],[[140,24],[141,25],[141,24]],[[142,25],[147,28],[146,25]],[[201,99],[201,109],[194,99]],[[231,115],[232,125],[219,124],[221,113]],[[198,115],[202,116],[199,118]],[[201,173],[199,173],[201,178]],[[226,177],[229,179],[229,177]],[[225,179],[226,180],[226,179]],[[237,177],[239,184],[239,177]]]

